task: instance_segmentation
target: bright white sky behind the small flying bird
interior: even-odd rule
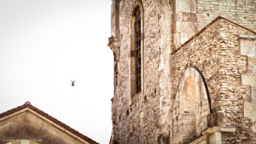
[[[109,143],[110,8],[111,0],[0,0],[0,113],[29,100]]]

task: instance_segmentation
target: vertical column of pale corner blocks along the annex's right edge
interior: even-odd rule
[[[243,102],[243,120],[244,124],[241,125],[246,131],[250,131],[249,138],[256,143],[256,73],[255,73],[255,60],[256,60],[256,36],[253,35],[240,35],[240,54],[247,58],[246,72],[241,75],[241,83],[244,86],[250,86],[251,95]],[[248,122],[248,123],[247,123]],[[248,138],[248,134],[244,134],[243,138]],[[253,143],[252,142],[252,143]]]

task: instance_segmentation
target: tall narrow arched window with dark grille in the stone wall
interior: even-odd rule
[[[131,95],[142,89],[142,11],[140,4],[134,7],[131,19]]]

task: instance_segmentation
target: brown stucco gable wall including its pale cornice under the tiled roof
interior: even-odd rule
[[[90,144],[70,129],[25,108],[0,118],[0,144]]]

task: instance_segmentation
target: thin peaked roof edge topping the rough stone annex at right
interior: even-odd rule
[[[179,51],[179,49],[181,47],[183,47],[184,45],[188,44],[189,42],[191,42],[193,39],[196,38],[196,36],[200,35],[201,33],[203,33],[206,29],[210,28],[212,26],[212,24],[214,24],[215,22],[217,22],[218,20],[225,20],[226,22],[229,22],[231,24],[234,24],[235,26],[238,26],[240,28],[245,29],[246,31],[250,31],[251,33],[256,35],[255,31],[252,31],[251,29],[245,28],[244,26],[241,26],[239,24],[237,24],[236,22],[232,22],[231,20],[225,19],[224,17],[218,16],[216,17],[214,20],[212,20],[209,24],[207,24],[204,28],[202,28],[198,33],[196,33],[195,35],[193,35],[191,38],[189,38],[186,42],[184,42],[184,44],[180,45],[179,47],[177,47],[177,49],[175,49],[173,51],[173,54],[175,54],[175,52]]]

